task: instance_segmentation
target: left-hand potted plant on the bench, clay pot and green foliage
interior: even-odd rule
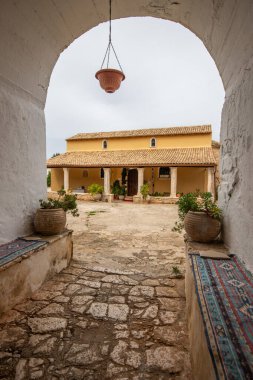
[[[64,231],[66,225],[66,213],[79,216],[76,195],[58,191],[58,198],[48,200],[40,199],[40,209],[36,211],[34,218],[35,231],[41,235],[56,235]]]

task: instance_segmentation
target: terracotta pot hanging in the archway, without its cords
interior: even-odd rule
[[[125,79],[124,73],[115,69],[99,70],[95,77],[99,80],[102,89],[108,93],[113,93],[118,90],[121,82]]]

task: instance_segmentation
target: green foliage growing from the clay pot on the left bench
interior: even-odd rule
[[[39,200],[40,207],[45,209],[63,208],[65,212],[70,212],[73,216],[79,216],[76,202],[76,195],[66,193],[65,190],[58,191],[58,198],[48,198],[47,201]]]

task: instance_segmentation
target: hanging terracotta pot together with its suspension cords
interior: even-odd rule
[[[101,69],[96,72],[95,77],[99,80],[100,86],[102,87],[105,92],[108,92],[109,94],[115,92],[119,89],[121,82],[125,79],[125,75],[123,73],[122,67],[120,65],[119,59],[117,57],[116,51],[112,44],[112,1],[109,0],[109,15],[110,15],[110,21],[109,21],[109,43],[105,52],[105,56],[101,65]],[[111,51],[114,53],[115,58],[118,62],[120,70],[111,69],[109,68],[110,63],[110,54]],[[106,68],[103,68],[104,64],[106,63]]]

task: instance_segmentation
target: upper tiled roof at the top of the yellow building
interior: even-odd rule
[[[129,131],[113,132],[95,132],[95,133],[78,133],[69,137],[66,141],[71,140],[90,140],[90,139],[107,139],[115,137],[136,137],[136,136],[164,136],[164,135],[192,135],[212,133],[211,125],[197,125],[192,127],[170,127],[170,128],[151,128],[136,129]]]

